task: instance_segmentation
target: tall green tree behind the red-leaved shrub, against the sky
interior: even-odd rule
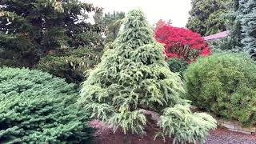
[[[192,0],[190,18],[186,27],[202,36],[216,34],[226,30],[228,11],[226,3],[230,0]]]

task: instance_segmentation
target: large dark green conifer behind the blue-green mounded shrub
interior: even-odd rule
[[[73,70],[70,62],[98,61],[84,58],[90,51],[101,56],[102,27],[86,22],[101,8],[78,0],[2,0],[0,5],[0,66],[34,68],[39,62],[38,69],[82,82],[77,77],[89,67]]]

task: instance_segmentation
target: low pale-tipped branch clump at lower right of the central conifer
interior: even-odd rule
[[[158,126],[162,128],[162,135],[174,138],[173,143],[203,143],[206,131],[214,128],[216,121],[208,114],[191,114],[188,106],[176,105],[164,110]]]

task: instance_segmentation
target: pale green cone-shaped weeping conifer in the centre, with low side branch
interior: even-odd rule
[[[150,110],[161,115],[158,134],[173,137],[174,142],[203,142],[207,131],[215,128],[215,120],[190,112],[181,97],[182,81],[169,70],[163,47],[153,35],[144,14],[130,11],[113,49],[103,54],[83,83],[78,102],[92,117],[114,130],[121,127],[125,134],[145,134],[150,120],[143,111]]]

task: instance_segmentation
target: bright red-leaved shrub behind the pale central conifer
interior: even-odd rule
[[[207,56],[210,48],[200,34],[170,25],[158,25],[154,38],[164,44],[168,58],[184,58],[193,62],[199,55]]]

